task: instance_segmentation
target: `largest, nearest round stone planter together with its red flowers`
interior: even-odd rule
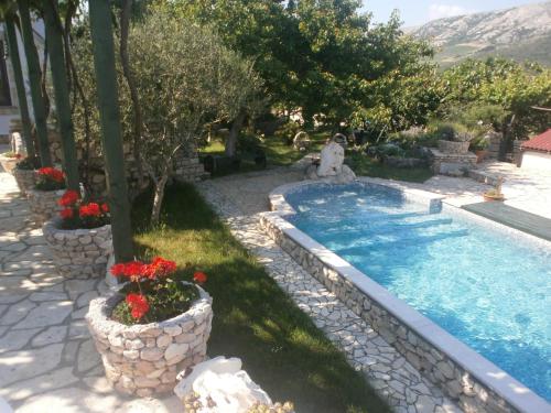
[[[108,381],[119,392],[170,393],[176,374],[202,362],[213,320],[212,298],[198,285],[174,276],[172,261],[115,264],[128,280],[119,293],[93,300],[86,320]],[[206,275],[196,273],[196,283]]]

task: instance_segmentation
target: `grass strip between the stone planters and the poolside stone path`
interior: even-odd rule
[[[147,198],[134,207],[136,242],[143,256],[174,260],[190,279],[209,279],[214,322],[208,354],[235,356],[274,401],[298,412],[389,412],[360,373],[282,292],[231,236],[192,185],[168,188],[162,224],[145,225]]]

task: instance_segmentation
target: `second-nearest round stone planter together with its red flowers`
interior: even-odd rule
[[[112,253],[107,204],[85,203],[76,191],[66,191],[57,205],[60,216],[42,227],[60,274],[87,279],[104,276]]]

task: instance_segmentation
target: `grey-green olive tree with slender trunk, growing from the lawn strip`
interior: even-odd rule
[[[212,30],[164,12],[132,25],[129,54],[143,119],[142,162],[154,184],[151,222],[156,224],[179,151],[193,151],[207,122],[235,119],[253,101],[259,80],[251,62]]]

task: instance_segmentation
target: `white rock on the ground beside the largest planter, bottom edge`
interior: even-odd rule
[[[256,402],[271,405],[268,394],[241,370],[241,360],[216,357],[193,367],[174,388],[184,406],[190,396],[197,413],[246,413]]]

